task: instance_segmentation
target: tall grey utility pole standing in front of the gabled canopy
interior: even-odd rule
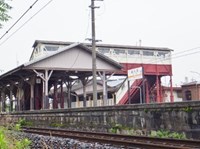
[[[97,106],[97,77],[96,77],[96,37],[95,37],[95,0],[91,0],[91,16],[92,16],[92,76],[93,76],[93,106]],[[101,1],[101,0],[99,0]]]

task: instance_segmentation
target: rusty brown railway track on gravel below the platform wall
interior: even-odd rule
[[[23,131],[40,135],[73,138],[90,142],[109,143],[113,145],[123,145],[127,148],[138,147],[141,149],[200,149],[200,141],[198,140],[163,139],[111,133],[71,131],[56,128],[23,127]]]

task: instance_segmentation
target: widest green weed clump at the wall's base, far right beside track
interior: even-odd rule
[[[150,136],[158,138],[186,139],[184,133],[170,132],[167,130],[151,131]]]

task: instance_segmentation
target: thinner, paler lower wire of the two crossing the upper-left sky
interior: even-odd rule
[[[10,36],[8,36],[4,41],[0,43],[3,45],[7,40],[9,40],[14,34],[16,34],[22,27],[24,27],[30,20],[32,20],[38,13],[40,13],[44,8],[46,8],[53,0],[47,2],[43,7],[41,7],[34,15],[32,15],[26,22],[24,22],[17,30],[15,30]]]

